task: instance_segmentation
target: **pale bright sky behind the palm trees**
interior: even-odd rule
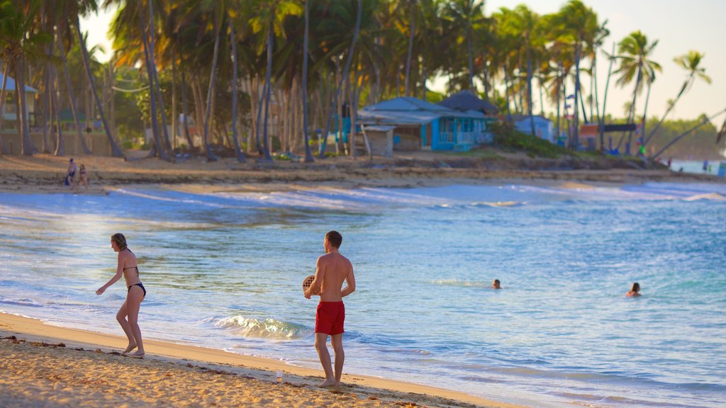
[[[486,0],[484,10],[486,15],[491,15],[499,7],[514,8],[518,4],[526,4],[542,15],[557,12],[565,2]],[[652,60],[661,64],[663,72],[656,77],[650,92],[649,117],[662,115],[666,110],[667,100],[673,99],[680,90],[685,79],[685,70],[676,65],[673,59],[691,49],[706,54],[701,63],[713,81],[711,85],[696,81],[688,94],[678,102],[669,118],[693,119],[702,113],[712,115],[726,107],[726,0],[584,0],[584,3],[597,12],[600,21],[608,20],[611,34],[605,40],[606,49],[611,50],[613,42],[621,41],[635,30],[643,31],[648,41],[658,40]],[[101,44],[106,49],[106,54],[97,55],[102,62],[110,59],[111,44],[107,32],[112,18],[113,10],[105,10],[99,12],[99,15],[81,20],[81,28],[89,31],[89,47]],[[602,54],[599,57],[597,83],[602,100],[608,62]],[[589,67],[589,62],[585,65]],[[587,75],[582,81],[583,86],[590,86]],[[632,99],[632,86],[618,88],[613,84],[614,80],[611,79],[607,113],[622,117],[624,105]],[[431,81],[429,87],[443,91],[444,81]],[[538,104],[538,92],[535,87],[535,104]],[[645,92],[638,99],[637,110],[642,115]],[[552,107],[545,105],[545,110],[550,111]]]

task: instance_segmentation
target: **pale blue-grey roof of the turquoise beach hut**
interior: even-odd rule
[[[366,125],[423,125],[439,118],[484,119],[484,115],[459,112],[412,97],[393,98],[358,111],[358,121]]]

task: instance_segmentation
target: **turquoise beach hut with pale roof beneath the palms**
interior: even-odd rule
[[[367,134],[373,150],[378,150],[376,144],[389,143],[390,132],[393,151],[467,151],[484,143],[484,120],[481,112],[461,112],[412,97],[390,99],[358,111],[363,131],[378,129]]]

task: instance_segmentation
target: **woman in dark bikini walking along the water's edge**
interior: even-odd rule
[[[136,262],[136,256],[126,245],[126,237],[123,234],[116,233],[111,235],[111,248],[118,252],[118,264],[116,266],[116,274],[106,282],[106,285],[99,287],[96,291],[97,295],[102,295],[105,290],[121,279],[121,275],[126,280],[126,301],[123,302],[121,308],[118,309],[116,320],[121,325],[126,337],[129,338],[129,346],[123,351],[123,354],[129,353],[134,348],[139,348],[132,356],[144,355],[144,343],[141,338],[141,329],[139,329],[139,306],[146,297],[146,288],[139,280],[139,263]],[[129,320],[126,320],[129,317]]]

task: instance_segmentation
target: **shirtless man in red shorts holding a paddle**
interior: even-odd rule
[[[315,349],[320,364],[325,371],[325,381],[319,383],[320,387],[340,385],[343,375],[343,323],[346,319],[346,307],[343,298],[356,290],[356,278],[353,275],[353,265],[348,258],[340,255],[338,249],[343,242],[343,236],[337,231],[325,234],[323,248],[325,255],[317,260],[315,280],[305,291],[305,297],[310,298],[314,293],[320,293],[320,303],[315,314]],[[346,282],[346,287],[343,286]],[[327,336],[333,343],[335,351],[335,372],[330,365],[330,353],[327,351]]]

